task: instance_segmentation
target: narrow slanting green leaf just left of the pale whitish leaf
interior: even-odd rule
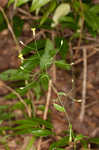
[[[48,18],[48,16],[53,12],[53,10],[56,7],[56,0],[51,1],[49,8],[47,9],[46,12],[44,12],[44,15],[40,21],[40,25],[42,25]]]

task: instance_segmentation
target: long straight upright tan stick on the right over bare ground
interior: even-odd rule
[[[87,52],[86,49],[83,49],[83,90],[82,90],[82,105],[79,119],[81,122],[84,120],[85,115],[85,103],[86,103],[86,85],[87,85]]]

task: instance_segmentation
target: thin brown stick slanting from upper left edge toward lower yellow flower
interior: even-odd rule
[[[5,12],[4,12],[4,10],[3,10],[3,8],[1,6],[0,6],[0,11],[2,12],[2,14],[3,14],[4,18],[5,18],[5,21],[6,21],[7,25],[8,25],[8,29],[9,29],[9,31],[12,34],[13,40],[15,41],[15,44],[17,46],[17,50],[20,52],[20,46],[19,46],[18,41],[17,41],[17,39],[15,37],[15,34],[14,34],[13,29],[11,27],[11,24],[10,24],[10,22],[8,20],[8,17],[6,16],[6,14],[5,14]]]

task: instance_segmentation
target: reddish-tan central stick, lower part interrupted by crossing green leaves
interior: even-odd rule
[[[47,119],[48,108],[49,108],[49,103],[50,103],[50,98],[51,98],[51,88],[52,88],[52,80],[49,81],[48,93],[47,93],[47,100],[46,100],[46,105],[45,105],[45,111],[44,111],[44,115],[43,115],[43,120]],[[42,129],[44,129],[44,126],[42,126]],[[41,142],[42,142],[42,138],[40,138],[39,141],[38,141],[37,150],[41,149]]]

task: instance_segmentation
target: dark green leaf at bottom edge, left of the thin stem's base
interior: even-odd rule
[[[65,136],[62,139],[60,139],[59,141],[52,143],[50,145],[49,150],[54,150],[58,147],[62,147],[62,146],[66,146],[66,145],[69,145],[69,137],[68,136]]]

